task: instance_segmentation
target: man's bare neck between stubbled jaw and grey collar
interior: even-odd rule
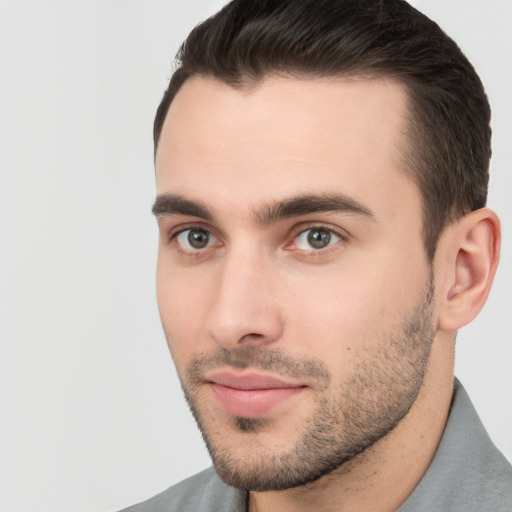
[[[393,431],[316,482],[286,491],[251,492],[249,512],[395,511],[426,473],[448,418],[453,343],[437,341],[431,363],[439,364],[430,364],[416,402]]]

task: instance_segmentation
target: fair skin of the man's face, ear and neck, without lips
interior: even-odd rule
[[[485,302],[499,224],[489,210],[470,214],[427,261],[421,195],[400,150],[406,109],[403,87],[384,79],[270,77],[234,89],[192,78],[171,104],[156,155],[157,296],[217,471],[233,483],[289,461],[326,411],[329,444],[361,438],[360,453],[314,482],[256,487],[250,510],[395,510],[441,438],[455,331]],[[276,208],[332,195],[342,207]],[[190,229],[208,233],[206,247],[190,245]],[[308,242],[315,229],[329,233],[326,247]],[[318,372],[292,370],[303,362]],[[205,378],[232,363],[303,389],[241,423]],[[377,436],[364,430],[372,423]]]

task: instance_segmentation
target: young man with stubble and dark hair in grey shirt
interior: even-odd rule
[[[402,0],[234,0],[155,120],[164,331],[213,469],[132,511],[510,511],[454,381],[498,264],[490,110]]]

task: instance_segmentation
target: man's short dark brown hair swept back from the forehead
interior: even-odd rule
[[[266,76],[390,77],[408,91],[407,169],[423,199],[432,261],[444,227],[485,206],[490,107],[478,75],[439,26],[403,0],[233,0],[192,30],[154,124],[155,152],[191,76],[233,87]]]

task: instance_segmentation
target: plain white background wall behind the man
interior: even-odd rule
[[[1,512],[112,511],[209,464],[154,297],[151,130],[179,43],[221,4],[0,0]],[[457,374],[512,460],[512,1],[415,5],[493,105],[502,266]]]

